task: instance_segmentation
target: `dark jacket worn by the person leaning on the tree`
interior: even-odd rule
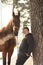
[[[22,43],[19,48],[19,53],[30,54],[31,52],[33,52],[33,49],[34,49],[34,38],[33,38],[33,35],[31,33],[29,33],[22,40]]]

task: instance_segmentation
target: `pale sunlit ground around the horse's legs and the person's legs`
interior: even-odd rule
[[[0,53],[0,56],[2,57],[2,53]],[[11,65],[15,65],[17,59],[17,48],[14,50],[13,55],[11,57]],[[0,58],[0,64],[3,65],[3,59]],[[27,59],[27,61],[24,63],[24,65],[33,65],[33,58],[30,56],[30,58]]]

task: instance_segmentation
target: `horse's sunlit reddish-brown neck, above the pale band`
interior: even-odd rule
[[[8,33],[11,33],[11,29],[12,29],[12,22],[13,22],[14,18],[12,17],[12,19],[9,21],[8,25],[6,27],[3,27],[2,29],[0,29],[0,38],[6,36]]]

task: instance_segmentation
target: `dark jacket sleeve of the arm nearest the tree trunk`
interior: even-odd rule
[[[28,44],[27,53],[30,54],[34,50],[34,38],[33,38],[32,34],[29,35],[29,37],[27,39],[27,44]]]

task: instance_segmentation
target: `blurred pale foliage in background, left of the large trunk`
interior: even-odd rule
[[[16,7],[21,12],[21,23],[28,26],[30,23],[30,2],[29,0],[1,0],[2,3],[12,4],[13,9]],[[30,23],[31,25],[31,23]]]

